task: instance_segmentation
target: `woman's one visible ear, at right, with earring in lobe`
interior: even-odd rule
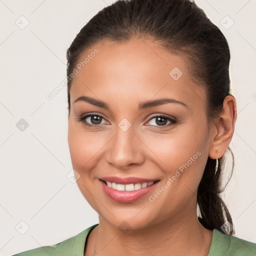
[[[220,158],[224,154],[234,133],[236,115],[235,98],[232,95],[227,95],[224,98],[221,113],[214,120],[213,138],[209,147],[209,157],[211,159]]]

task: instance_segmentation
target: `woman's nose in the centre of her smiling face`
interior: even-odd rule
[[[134,129],[123,131],[119,127],[108,143],[106,160],[118,169],[125,170],[131,165],[142,164],[145,145]]]

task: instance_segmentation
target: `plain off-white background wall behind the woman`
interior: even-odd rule
[[[230,144],[235,168],[224,199],[236,236],[256,242],[256,1],[195,2],[230,46],[238,116]],[[0,255],[54,244],[98,223],[66,176],[72,170],[66,86],[51,100],[46,95],[65,78],[65,51],[76,33],[110,3],[0,0]],[[28,123],[23,131],[16,126],[21,118]]]

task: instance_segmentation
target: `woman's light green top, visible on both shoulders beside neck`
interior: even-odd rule
[[[55,245],[23,251],[12,256],[83,256],[84,246],[94,224],[75,236]],[[255,256],[256,243],[249,242],[213,229],[208,256]]]

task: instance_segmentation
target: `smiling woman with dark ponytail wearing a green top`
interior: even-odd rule
[[[67,49],[68,144],[99,224],[16,255],[255,255],[219,195],[229,59],[189,0],[120,0],[92,17]]]

